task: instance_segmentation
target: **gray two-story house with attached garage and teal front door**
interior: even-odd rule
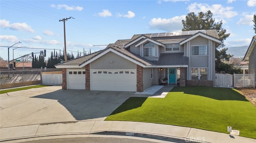
[[[163,80],[213,86],[220,42],[216,30],[139,34],[55,67],[63,89],[142,92]]]

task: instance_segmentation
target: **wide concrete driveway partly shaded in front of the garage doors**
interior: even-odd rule
[[[62,90],[61,86],[0,94],[0,127],[103,121],[135,92]]]

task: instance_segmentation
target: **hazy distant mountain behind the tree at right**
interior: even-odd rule
[[[226,53],[230,55],[234,55],[233,57],[244,57],[247,49],[248,49],[248,46],[229,47]]]

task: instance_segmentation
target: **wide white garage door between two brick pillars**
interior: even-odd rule
[[[136,70],[91,70],[91,90],[136,91]]]

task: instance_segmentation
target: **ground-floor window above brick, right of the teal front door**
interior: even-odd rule
[[[191,80],[207,80],[207,68],[191,68]]]

